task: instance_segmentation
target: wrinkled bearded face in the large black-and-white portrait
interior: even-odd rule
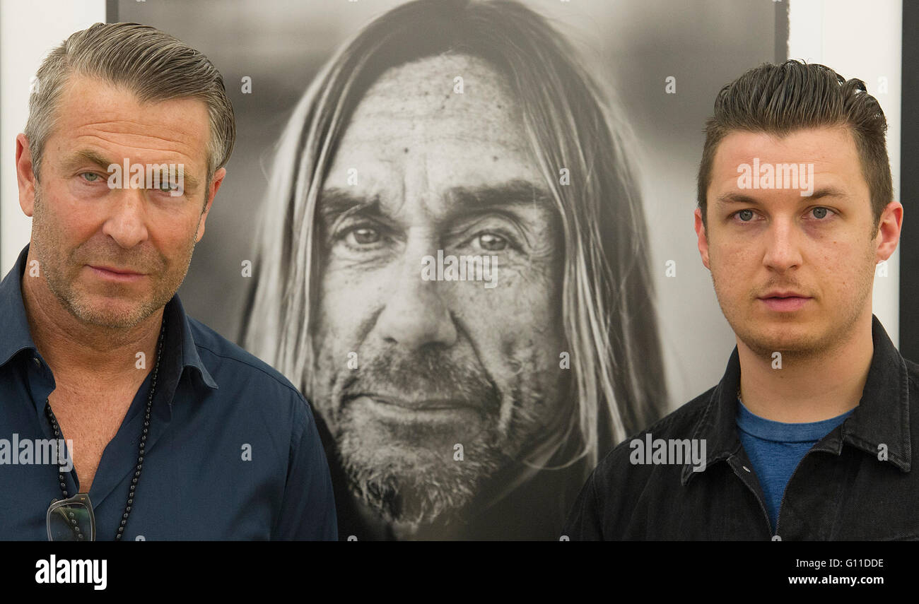
[[[501,76],[465,55],[383,73],[336,148],[309,396],[385,520],[459,513],[569,402],[561,227],[529,149]]]

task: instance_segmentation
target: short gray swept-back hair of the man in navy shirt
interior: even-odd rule
[[[233,106],[213,63],[182,40],[138,23],[96,23],[45,57],[28,99],[26,138],[39,176],[45,141],[60,118],[57,106],[71,75],[124,86],[142,103],[197,98],[208,106],[208,178],[226,165],[236,140]],[[205,196],[207,197],[207,196]]]

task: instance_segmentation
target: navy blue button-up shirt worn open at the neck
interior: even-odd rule
[[[58,460],[35,463],[49,456],[33,453],[32,463],[19,463],[29,461],[29,443],[54,438],[45,416],[54,376],[32,341],[22,301],[27,253],[28,245],[0,282],[4,540],[47,540],[46,511],[62,498]],[[146,455],[122,539],[335,540],[332,482],[306,400],[278,371],[188,318],[178,296],[164,317]],[[89,490],[99,541],[115,538],[124,513],[152,363],[148,372]],[[68,495],[80,491],[75,471],[64,477]]]

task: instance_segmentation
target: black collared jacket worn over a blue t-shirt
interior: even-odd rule
[[[734,348],[718,386],[634,437],[705,439],[704,469],[693,471],[691,460],[632,464],[630,457],[643,458],[627,439],[587,479],[563,535],[573,541],[919,540],[919,365],[902,358],[876,317],[871,334],[874,354],[861,401],[800,461],[777,528],[737,435]]]

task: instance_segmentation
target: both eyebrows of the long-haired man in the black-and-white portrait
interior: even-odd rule
[[[514,179],[501,185],[455,186],[446,196],[455,202],[452,216],[476,214],[508,206],[537,206],[550,208],[548,190],[529,181]],[[381,214],[380,195],[361,196],[341,187],[329,187],[320,195],[319,213],[323,220],[354,212]]]

